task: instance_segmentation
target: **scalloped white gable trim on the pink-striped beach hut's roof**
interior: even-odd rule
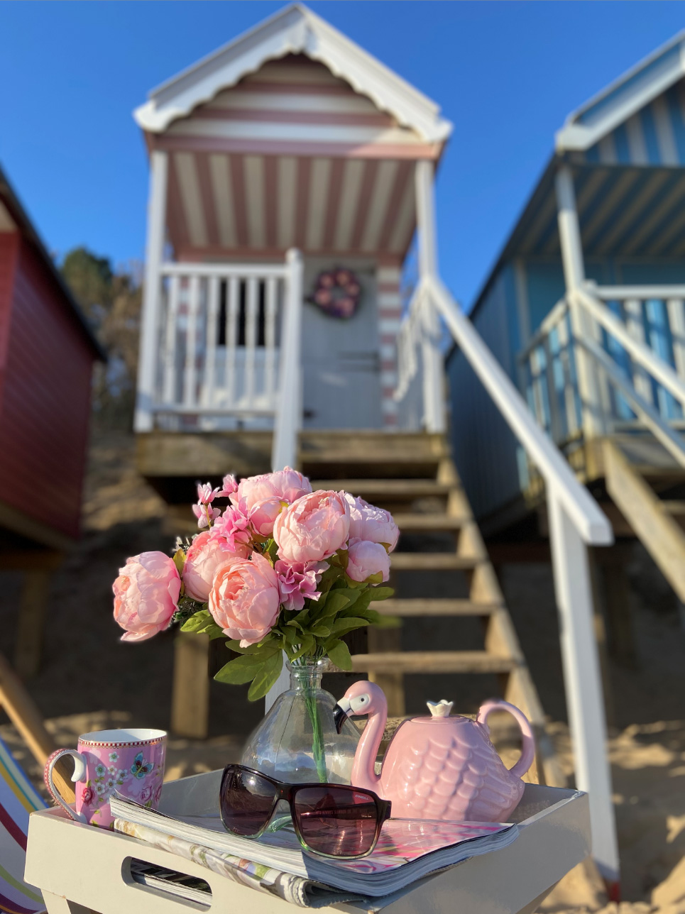
[[[429,143],[442,143],[452,124],[422,92],[302,4],[286,6],[260,25],[166,81],[134,112],[150,133],[164,133],[177,118],[235,85],[270,59],[305,54],[326,65],[354,90],[369,96],[381,111]]]

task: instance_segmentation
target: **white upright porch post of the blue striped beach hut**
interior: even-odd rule
[[[585,265],[583,244],[578,212],[575,207],[573,175],[568,165],[562,165],[555,179],[557,197],[557,221],[559,224],[559,242],[562,248],[563,277],[566,291],[569,292],[569,310],[571,329],[576,340],[589,337],[595,342],[597,327],[588,314],[583,314],[575,301],[573,292],[582,288],[585,282]],[[580,346],[573,349],[578,375],[578,393],[581,399],[583,432],[590,440],[605,432],[604,409],[597,372],[590,359]]]

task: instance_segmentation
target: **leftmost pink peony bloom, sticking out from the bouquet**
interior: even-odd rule
[[[168,628],[177,611],[181,579],[173,558],[141,552],[126,559],[112,590],[114,619],[126,630],[122,641],[146,641]]]

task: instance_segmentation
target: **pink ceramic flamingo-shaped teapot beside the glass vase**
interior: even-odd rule
[[[453,819],[461,822],[506,822],[523,794],[522,775],[535,757],[528,719],[518,707],[492,699],[476,720],[450,717],[452,702],[428,702],[431,717],[413,717],[395,731],[380,775],[376,755],[388,717],[378,685],[351,685],[335,710],[337,727],[348,715],[368,714],[352,765],[351,782],[392,802],[393,818]],[[487,716],[503,710],[516,718],[523,745],[510,770],[489,739]]]

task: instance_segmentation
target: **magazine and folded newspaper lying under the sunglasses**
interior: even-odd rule
[[[275,881],[277,874],[296,877],[290,883],[296,887],[294,892],[286,893],[293,897],[287,900],[304,906],[310,906],[310,897],[326,887],[337,889],[346,900],[390,895],[446,866],[505,847],[518,834],[511,824],[390,819],[369,856],[335,860],[303,850],[292,827],[253,840],[227,832],[219,813],[172,817],[120,796],[112,796],[112,815],[116,831],[163,846],[241,882],[253,884],[254,877]],[[275,894],[285,897],[282,891]],[[328,898],[326,903],[332,900],[343,898]]]

